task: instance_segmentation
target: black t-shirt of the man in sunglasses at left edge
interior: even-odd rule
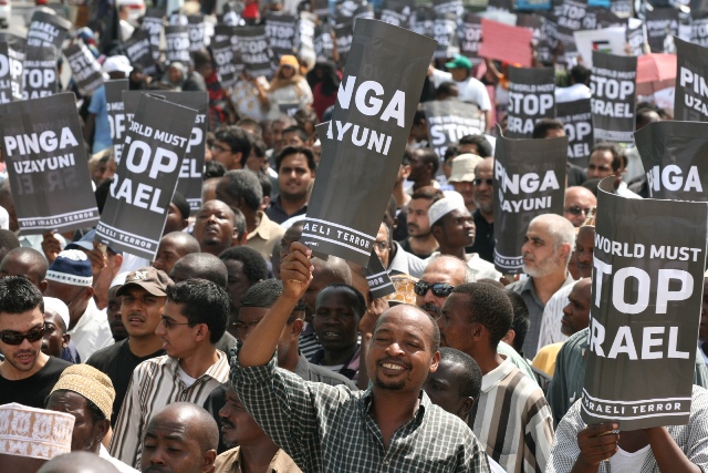
[[[29,378],[10,381],[0,377],[0,404],[19,402],[30,408],[44,409],[46,397],[62,371],[71,364],[61,358],[49,357],[46,364]]]

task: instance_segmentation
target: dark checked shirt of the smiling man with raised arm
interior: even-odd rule
[[[268,435],[302,471],[489,472],[485,449],[465,423],[420,394],[413,419],[388,449],[371,415],[372,391],[302,380],[275,368],[243,368],[231,359],[231,383]]]

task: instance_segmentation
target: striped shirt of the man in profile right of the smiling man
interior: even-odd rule
[[[487,454],[510,473],[542,472],[553,442],[543,391],[507,359],[482,377],[469,425]]]

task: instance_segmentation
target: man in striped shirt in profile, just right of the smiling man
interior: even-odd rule
[[[477,361],[482,389],[468,418],[487,453],[507,472],[545,469],[553,421],[541,388],[497,351],[513,318],[503,289],[462,284],[450,292],[438,319],[444,346]]]

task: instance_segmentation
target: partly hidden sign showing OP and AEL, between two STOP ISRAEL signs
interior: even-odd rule
[[[563,123],[568,136],[568,161],[587,167],[590,150],[595,145],[590,99],[556,103],[555,117]]]

